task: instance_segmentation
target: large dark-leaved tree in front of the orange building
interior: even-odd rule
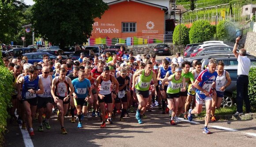
[[[34,0],[32,25],[36,32],[54,44],[87,42],[94,18],[100,18],[108,5],[102,0]]]

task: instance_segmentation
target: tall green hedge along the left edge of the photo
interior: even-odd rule
[[[2,53],[0,51],[0,56]],[[7,125],[7,108],[11,106],[11,94],[13,76],[7,68],[4,67],[3,60],[0,57],[0,145],[3,142],[3,134]]]

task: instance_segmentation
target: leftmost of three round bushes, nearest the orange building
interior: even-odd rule
[[[173,32],[173,43],[178,45],[180,43],[180,25],[177,25]],[[181,24],[181,44],[189,44],[189,29]]]

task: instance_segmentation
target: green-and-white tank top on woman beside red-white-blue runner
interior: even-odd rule
[[[169,93],[169,94],[179,93],[182,85],[183,76],[181,75],[180,79],[178,80],[175,79],[175,74],[171,75],[171,77],[172,77],[172,80],[169,81],[166,93]]]

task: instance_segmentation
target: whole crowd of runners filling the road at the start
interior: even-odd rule
[[[61,56],[49,59],[45,54],[34,65],[26,56],[11,61],[3,58],[14,77],[11,121],[34,136],[32,125],[39,126],[39,132],[44,131],[43,125],[51,129],[50,117],[57,111],[61,133],[67,134],[64,117],[68,113],[71,122],[78,123],[77,128],[82,128],[84,117],[100,117],[99,127],[105,128],[106,122],[112,124],[118,114],[119,121],[124,122],[124,117],[134,111],[138,123],[143,124],[142,118],[147,118],[151,107],[158,106],[163,115],[169,115],[170,125],[176,125],[178,116],[192,121],[194,115],[200,114],[204,100],[207,113],[203,133],[211,133],[207,124],[210,119],[216,121],[215,108],[220,107],[231,82],[222,62],[211,59],[202,69],[200,61],[191,65],[183,61],[180,53],[173,60],[164,57],[161,63],[154,54],[144,55],[143,59],[133,56],[132,51],[121,50],[118,54],[121,60],[110,53],[94,58],[82,53],[77,61],[64,61]],[[38,119],[39,124],[32,123],[33,119]]]

